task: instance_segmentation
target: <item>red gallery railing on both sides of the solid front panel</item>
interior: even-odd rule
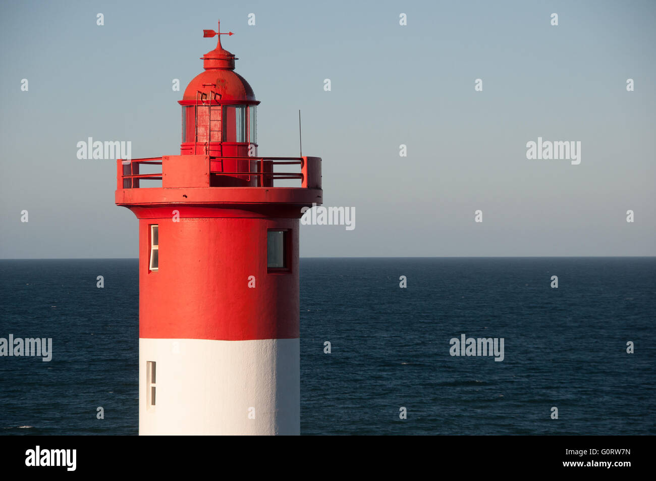
[[[249,169],[239,172],[227,172],[223,170],[223,161],[246,161]],[[255,161],[255,171],[250,169]],[[141,165],[163,165],[162,157],[149,157],[145,159],[119,159],[117,161],[119,172],[117,188],[129,189],[140,188],[140,180],[162,180],[163,173],[142,174],[139,172]],[[318,157],[209,157],[209,173],[211,175],[228,175],[257,178],[257,186],[274,187],[275,180],[300,179],[301,187],[321,187],[321,159]],[[300,165],[300,172],[274,172],[276,165]],[[310,171],[313,175],[310,175]],[[309,180],[309,182],[308,182]]]

